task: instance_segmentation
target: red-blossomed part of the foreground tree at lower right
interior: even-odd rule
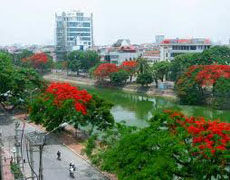
[[[192,139],[192,155],[205,158],[215,157],[224,160],[230,153],[230,123],[218,120],[205,120],[203,117],[187,117],[180,112],[166,110],[173,123],[170,130],[177,132],[178,127],[189,134]],[[222,156],[222,157],[221,157]]]

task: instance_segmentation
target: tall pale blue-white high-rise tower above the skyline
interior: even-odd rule
[[[80,11],[62,12],[55,15],[57,59],[72,50],[86,50],[93,46],[93,14]]]

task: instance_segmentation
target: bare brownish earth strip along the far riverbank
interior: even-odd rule
[[[68,82],[73,85],[89,85],[95,86],[96,81],[94,79],[86,78],[86,77],[73,77],[67,76],[66,73],[50,73],[48,75],[43,76],[47,81],[57,81],[57,82]],[[106,88],[106,87],[104,87]],[[110,87],[111,88],[111,87]],[[154,85],[150,85],[149,87],[141,87],[137,84],[127,84],[124,87],[113,87],[114,89],[119,89],[127,92],[138,92],[146,94],[147,96],[162,96],[176,99],[176,94],[173,89],[160,90],[156,89]]]

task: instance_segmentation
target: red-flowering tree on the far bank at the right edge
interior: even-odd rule
[[[221,90],[221,88],[219,88],[220,81],[222,87],[225,87],[227,84],[229,84],[229,65],[191,66],[177,81],[177,94],[180,100],[185,104],[206,103],[205,98],[209,98],[212,96],[218,98],[216,95],[221,94],[217,93],[217,91]],[[229,96],[226,92],[225,95],[226,96],[224,98],[227,98]]]

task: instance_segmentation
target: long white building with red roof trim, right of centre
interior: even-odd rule
[[[165,39],[160,44],[160,60],[171,61],[177,55],[200,53],[211,46],[209,39]]]

